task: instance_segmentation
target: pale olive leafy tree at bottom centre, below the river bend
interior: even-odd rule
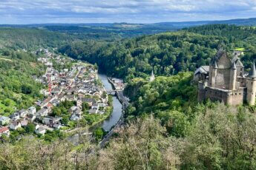
[[[100,152],[99,167],[105,169],[178,169],[180,158],[165,129],[153,116],[135,120],[118,131],[118,137]],[[166,151],[166,152],[165,152]],[[175,161],[174,161],[175,160]]]

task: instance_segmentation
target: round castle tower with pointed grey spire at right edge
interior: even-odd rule
[[[256,92],[256,69],[255,62],[252,64],[252,69],[247,78],[247,96],[246,100],[249,105],[255,105],[255,92]]]

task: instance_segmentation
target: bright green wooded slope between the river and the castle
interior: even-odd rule
[[[180,72],[170,77],[157,77],[150,83],[140,81],[129,83],[125,94],[133,93],[127,117],[141,118],[154,113],[165,126],[169,135],[186,135],[186,130],[194,119],[192,109],[197,104],[197,88],[191,84],[193,74]],[[192,108],[192,109],[191,109]]]

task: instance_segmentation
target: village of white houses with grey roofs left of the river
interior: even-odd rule
[[[38,61],[45,65],[45,74],[33,79],[45,85],[41,90],[44,100],[36,101],[34,106],[13,112],[10,117],[0,117],[0,136],[10,135],[10,131],[25,128],[33,123],[34,132],[41,136],[47,131],[62,129],[62,116],[53,116],[53,108],[69,101],[73,106],[68,109],[69,121],[79,121],[84,114],[104,115],[109,107],[108,95],[100,83],[96,68],[82,61],[56,55],[49,50],[40,49],[44,57]],[[62,69],[54,69],[54,64]],[[69,68],[65,65],[71,64]],[[87,106],[85,110],[83,106]]]

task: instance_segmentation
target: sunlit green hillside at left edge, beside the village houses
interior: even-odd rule
[[[33,59],[30,58],[31,56]],[[18,59],[19,57],[22,59]],[[33,106],[33,102],[42,97],[39,90],[43,86],[36,83],[32,75],[41,75],[44,67],[34,60],[36,60],[35,55],[27,52],[14,52],[10,56],[0,56],[1,115],[10,115],[15,109]]]

